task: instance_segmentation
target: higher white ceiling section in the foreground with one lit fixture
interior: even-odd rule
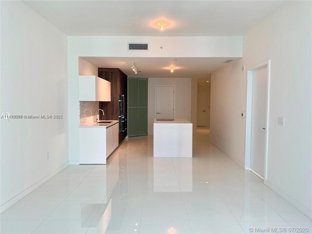
[[[69,36],[243,36],[284,1],[27,0]],[[166,21],[160,31],[156,25]]]

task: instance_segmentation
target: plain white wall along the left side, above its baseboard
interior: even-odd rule
[[[1,211],[68,165],[67,37],[21,1],[1,1]],[[50,158],[47,159],[47,152]]]

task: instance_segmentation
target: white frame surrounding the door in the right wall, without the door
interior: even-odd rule
[[[265,121],[265,149],[264,149],[264,180],[267,179],[268,140],[269,140],[269,106],[270,106],[270,70],[271,60],[251,66],[247,71],[247,103],[246,103],[246,140],[245,140],[245,170],[251,170],[251,142],[252,142],[252,110],[253,110],[253,80],[254,71],[267,68],[267,106]],[[259,175],[258,175],[259,176]],[[260,176],[261,177],[261,176]]]

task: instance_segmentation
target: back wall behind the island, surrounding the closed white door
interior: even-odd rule
[[[183,118],[191,121],[191,78],[149,78],[148,79],[148,113],[147,113],[147,132],[153,135],[154,119],[156,113],[155,106],[155,87],[156,85],[175,86],[175,119]]]

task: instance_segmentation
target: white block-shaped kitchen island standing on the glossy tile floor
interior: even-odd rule
[[[192,157],[193,124],[154,119],[154,157]]]

